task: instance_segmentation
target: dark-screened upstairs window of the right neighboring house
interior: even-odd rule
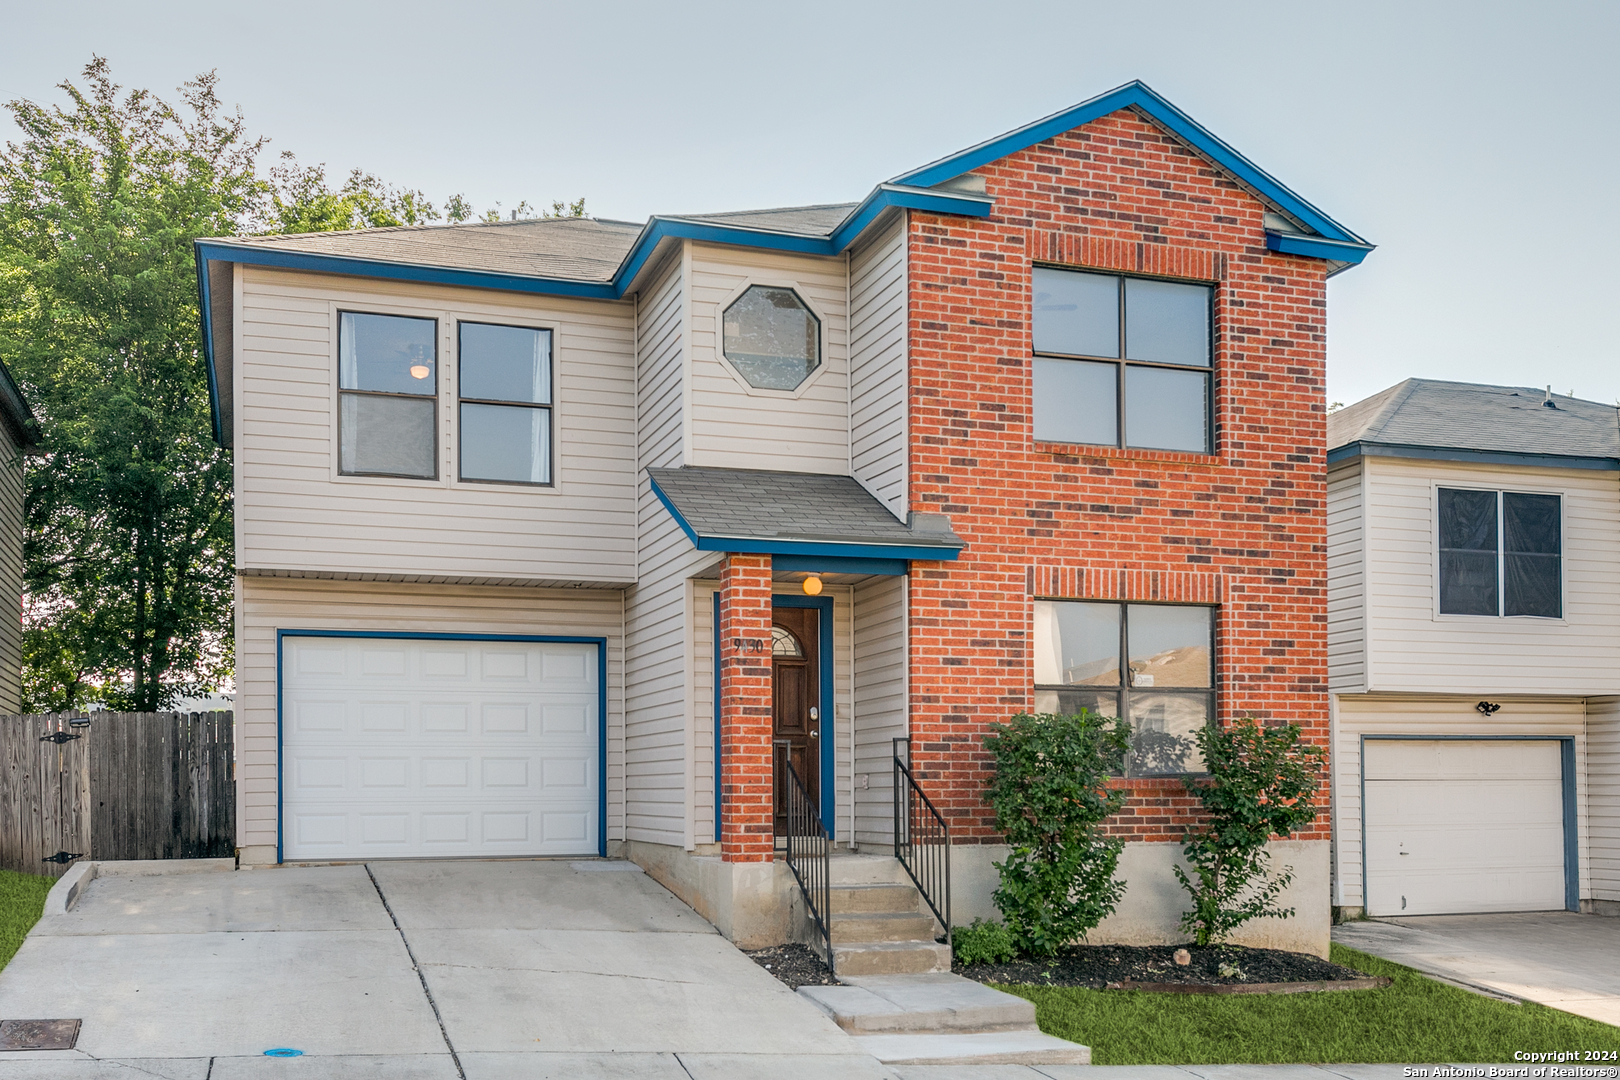
[[[1563,617],[1558,495],[1440,489],[1440,614]]]

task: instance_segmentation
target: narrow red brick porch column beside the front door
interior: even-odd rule
[[[771,814],[771,557],[726,555],[719,573],[721,858],[774,858]]]

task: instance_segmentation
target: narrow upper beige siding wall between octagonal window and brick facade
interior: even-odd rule
[[[849,261],[850,474],[906,520],[906,214]]]

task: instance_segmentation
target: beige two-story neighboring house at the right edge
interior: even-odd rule
[[[1408,379],[1328,418],[1333,904],[1620,915],[1620,426]]]

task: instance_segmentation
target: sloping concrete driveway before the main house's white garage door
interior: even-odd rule
[[[0,1017],[84,1022],[0,1052],[8,1080],[894,1075],[622,861],[104,874],[0,973]]]

